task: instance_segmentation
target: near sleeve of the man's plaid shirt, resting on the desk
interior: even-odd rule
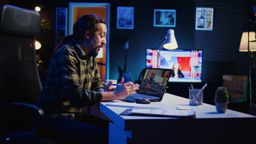
[[[102,100],[102,93],[83,87],[79,79],[78,61],[71,50],[59,52],[56,56],[57,74],[61,76],[61,97],[72,105],[92,105]]]

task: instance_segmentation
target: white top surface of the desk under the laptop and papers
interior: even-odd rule
[[[165,93],[162,101],[152,102],[150,104],[136,104],[136,103],[127,103],[125,101],[114,100],[110,102],[101,102],[100,110],[108,118],[112,119],[115,123],[118,121],[124,122],[129,119],[171,119],[165,117],[144,117],[144,116],[122,116],[119,115],[121,112],[129,109],[127,107],[117,107],[117,106],[105,106],[106,104],[115,104],[115,105],[128,105],[128,106],[145,106],[145,107],[158,107],[160,109],[166,110],[176,110],[177,106],[190,106],[189,99],[178,97],[173,94]],[[248,115],[246,113],[237,112],[233,110],[226,110],[225,113],[218,113],[214,105],[209,105],[203,103],[201,106],[190,106],[196,112],[196,118],[241,118],[241,117],[255,117]]]

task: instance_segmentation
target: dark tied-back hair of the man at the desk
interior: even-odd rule
[[[90,31],[91,34],[94,34],[98,31],[97,23],[105,23],[102,19],[102,17],[89,14],[89,15],[83,15],[80,17],[77,22],[75,22],[73,26],[73,37],[76,40],[80,40],[84,38],[85,31]]]

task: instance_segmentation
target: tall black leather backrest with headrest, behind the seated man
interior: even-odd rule
[[[39,33],[39,13],[0,5],[0,103],[36,104],[42,91],[35,57]]]

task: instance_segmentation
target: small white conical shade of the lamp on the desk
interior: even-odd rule
[[[165,49],[168,49],[168,50],[174,50],[174,49],[178,48],[177,41],[174,37],[173,29],[168,29],[166,39],[163,43],[163,46]]]

